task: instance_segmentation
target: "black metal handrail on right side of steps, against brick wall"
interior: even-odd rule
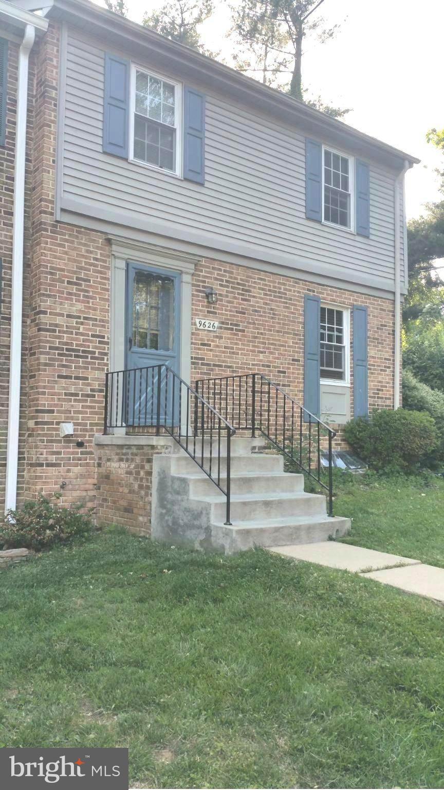
[[[195,383],[201,397],[237,430],[256,431],[268,439],[293,464],[328,493],[329,516],[333,516],[332,443],[336,436],[322,422],[262,373],[201,378]],[[321,475],[322,446],[328,453],[328,480]]]

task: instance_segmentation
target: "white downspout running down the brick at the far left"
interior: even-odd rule
[[[5,512],[17,504],[18,434],[20,419],[21,322],[23,313],[24,170],[26,166],[26,119],[28,112],[28,58],[36,28],[24,28],[18,58],[16,145],[13,199],[13,275],[11,345],[9,355],[8,444],[6,450]]]

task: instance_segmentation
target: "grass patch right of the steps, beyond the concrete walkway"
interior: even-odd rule
[[[353,519],[342,541],[444,567],[444,480],[335,475],[337,516]]]

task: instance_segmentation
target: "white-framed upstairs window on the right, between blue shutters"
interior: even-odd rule
[[[354,161],[322,147],[322,221],[353,230]]]

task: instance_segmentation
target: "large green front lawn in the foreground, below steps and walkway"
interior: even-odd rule
[[[430,601],[110,530],[3,571],[0,628],[2,745],[129,747],[139,787],[444,786]]]

